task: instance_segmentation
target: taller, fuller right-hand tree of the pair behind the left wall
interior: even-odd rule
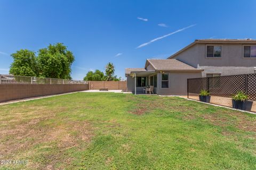
[[[71,64],[75,61],[72,52],[62,43],[39,49],[39,76],[47,78],[71,79]]]

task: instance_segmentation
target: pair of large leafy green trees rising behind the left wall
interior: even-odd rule
[[[62,43],[49,45],[36,53],[21,49],[11,55],[13,63],[10,74],[31,77],[71,79],[71,64],[75,61],[72,52]]]

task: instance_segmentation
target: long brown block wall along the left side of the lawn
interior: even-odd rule
[[[0,84],[0,102],[88,90],[88,84]]]

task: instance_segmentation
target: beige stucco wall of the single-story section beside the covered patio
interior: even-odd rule
[[[157,74],[158,95],[186,95],[187,79],[201,77],[201,72],[169,72],[169,88],[162,88],[162,74]],[[159,84],[159,85],[158,85]]]

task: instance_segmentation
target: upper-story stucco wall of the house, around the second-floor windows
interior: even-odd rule
[[[211,44],[195,44],[173,58],[204,69],[203,77],[206,73],[221,73],[221,75],[254,73],[256,58],[243,58],[243,44],[216,44],[222,46],[221,58],[206,58],[206,45]]]

